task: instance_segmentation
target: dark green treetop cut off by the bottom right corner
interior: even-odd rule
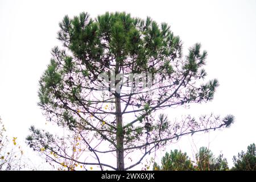
[[[235,171],[255,171],[256,170],[256,147],[255,144],[250,144],[247,151],[238,153],[233,157]]]

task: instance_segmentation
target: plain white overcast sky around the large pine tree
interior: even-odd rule
[[[92,17],[106,11],[126,11],[167,22],[187,48],[200,42],[208,51],[206,80],[218,78],[214,100],[191,109],[166,110],[170,119],[181,114],[233,114],[236,122],[221,132],[195,137],[196,147],[232,157],[256,142],[256,1],[10,1],[0,0],[0,116],[11,137],[24,143],[31,125],[45,127],[37,106],[38,81],[46,69],[65,14],[82,11]],[[193,145],[183,138],[168,150],[188,153]],[[28,150],[28,149],[27,149]],[[195,150],[195,147],[193,147]],[[31,153],[33,155],[34,153]],[[161,156],[163,152],[159,152]],[[189,153],[189,154],[192,154]],[[35,154],[34,154],[35,155]]]

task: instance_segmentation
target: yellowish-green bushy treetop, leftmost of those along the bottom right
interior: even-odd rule
[[[166,152],[161,160],[162,166],[154,163],[153,170],[155,171],[193,171],[193,163],[190,158],[188,158],[187,153],[182,153],[181,151],[174,150]]]

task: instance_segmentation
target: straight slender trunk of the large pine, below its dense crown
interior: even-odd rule
[[[123,158],[123,121],[122,121],[122,111],[120,97],[115,96],[115,118],[117,122],[117,170],[124,171],[125,163]]]

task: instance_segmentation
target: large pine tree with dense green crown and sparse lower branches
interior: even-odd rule
[[[188,115],[169,122],[161,114],[156,119],[168,107],[212,100],[218,86],[216,79],[203,81],[207,52],[201,52],[197,43],[183,57],[181,40],[167,23],[126,13],[105,13],[96,19],[81,13],[73,19],[65,16],[59,26],[63,49],[52,49],[51,63],[39,82],[39,106],[49,121],[81,138],[84,154],[73,159],[72,152],[63,148],[69,144],[75,150],[73,142],[31,127],[28,144],[36,151],[44,148],[48,159],[55,154],[84,166],[127,170],[182,135],[221,129],[233,122],[230,115],[224,119],[204,115],[198,121]],[[105,80],[102,73],[108,74]],[[126,82],[131,73],[151,73],[152,79],[135,75]],[[125,158],[131,159],[138,150],[142,155],[125,167]],[[85,159],[86,152],[94,162]],[[109,153],[115,155],[115,167],[101,162],[101,155]]]

